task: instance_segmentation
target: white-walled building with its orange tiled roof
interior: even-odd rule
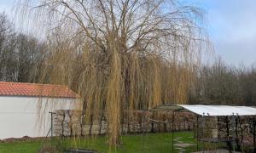
[[[66,86],[0,82],[0,139],[46,136],[49,112],[73,109],[77,97]]]

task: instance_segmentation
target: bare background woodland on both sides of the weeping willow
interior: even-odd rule
[[[0,14],[0,81],[39,82],[44,71],[47,45],[14,30]],[[202,65],[189,92],[190,104],[255,105],[256,65],[231,66],[218,60]]]

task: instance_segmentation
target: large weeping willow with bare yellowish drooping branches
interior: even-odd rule
[[[20,4],[48,33],[41,81],[78,92],[84,123],[107,116],[111,146],[120,143],[122,121],[132,111],[188,101],[207,43],[200,8],[173,0]]]

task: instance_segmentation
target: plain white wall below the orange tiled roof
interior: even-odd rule
[[[44,137],[50,128],[49,111],[73,109],[74,102],[75,99],[0,96],[0,139]],[[38,105],[44,108],[40,113]]]

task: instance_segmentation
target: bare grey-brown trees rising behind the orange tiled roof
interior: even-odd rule
[[[44,43],[14,30],[6,14],[0,14],[0,81],[37,82],[44,60]]]

